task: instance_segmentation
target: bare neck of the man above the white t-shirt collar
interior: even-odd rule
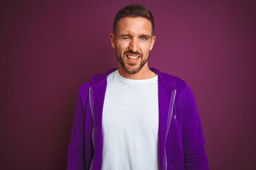
[[[150,79],[156,76],[156,73],[152,72],[147,64],[136,74],[127,73],[121,66],[119,66],[118,72],[122,77],[127,79]]]

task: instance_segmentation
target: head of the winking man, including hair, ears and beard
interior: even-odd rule
[[[156,40],[149,9],[139,4],[124,6],[114,17],[110,39],[116,50],[119,69],[128,74],[148,69],[149,51]]]

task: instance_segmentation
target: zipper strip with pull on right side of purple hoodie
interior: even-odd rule
[[[171,98],[170,98],[170,105],[169,105],[169,111],[168,113],[170,113],[171,110],[171,116],[170,116],[170,120],[169,120],[169,125],[168,128],[166,127],[166,135],[164,138],[164,159],[163,159],[163,166],[165,166],[165,169],[167,169],[167,157],[166,157],[166,139],[167,139],[167,135],[169,133],[169,128],[171,125],[171,119],[172,119],[172,115],[174,113],[174,101],[175,101],[175,97],[176,97],[176,89],[174,89],[174,91],[171,92]],[[169,115],[169,114],[168,114]],[[174,119],[176,119],[176,114],[174,113]],[[168,118],[167,118],[168,120]],[[164,167],[162,168],[164,169]]]

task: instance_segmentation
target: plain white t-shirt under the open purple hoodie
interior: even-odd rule
[[[102,115],[102,169],[159,169],[158,76],[126,79],[118,70],[107,77]]]

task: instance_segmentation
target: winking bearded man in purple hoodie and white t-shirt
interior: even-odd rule
[[[208,169],[191,89],[149,69],[156,40],[149,9],[122,8],[110,40],[119,69],[80,87],[68,169]]]

